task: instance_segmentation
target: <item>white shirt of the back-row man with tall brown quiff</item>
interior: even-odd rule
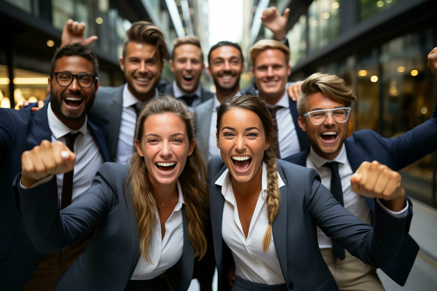
[[[155,96],[158,98],[158,89],[155,89]],[[123,89],[123,110],[121,111],[120,132],[118,133],[117,154],[115,161],[120,164],[127,165],[130,162],[132,151],[134,148],[135,126],[137,115],[132,105],[136,105],[141,109],[144,102],[138,100],[128,89],[128,84],[125,84]]]

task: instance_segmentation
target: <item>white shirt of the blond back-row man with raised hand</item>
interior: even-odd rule
[[[288,92],[285,90],[284,96],[282,96],[276,104],[269,105],[269,107],[281,106],[281,108],[276,111],[277,138],[281,158],[297,154],[301,151],[288,99]]]

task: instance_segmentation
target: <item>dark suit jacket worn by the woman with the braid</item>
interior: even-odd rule
[[[277,160],[281,187],[279,212],[273,223],[273,242],[288,290],[338,290],[319,250],[316,225],[355,257],[375,267],[389,264],[408,232],[409,215],[397,219],[375,204],[374,226],[363,223],[338,203],[320,183],[314,169]],[[220,157],[213,158],[210,168],[209,205],[218,290],[226,290],[225,260],[229,248],[222,239],[222,214],[225,199],[215,181],[223,171]],[[260,246],[261,247],[261,246]]]

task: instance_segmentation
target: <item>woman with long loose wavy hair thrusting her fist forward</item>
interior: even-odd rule
[[[187,290],[194,258],[206,252],[208,205],[187,106],[171,97],[147,103],[130,166],[103,164],[92,187],[60,212],[53,175],[72,170],[74,154],[43,142],[23,157],[17,203],[35,248],[51,252],[92,234],[55,290]]]

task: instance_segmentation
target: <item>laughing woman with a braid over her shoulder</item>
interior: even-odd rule
[[[390,263],[408,228],[411,202],[403,218],[375,203],[369,226],[335,200],[316,171],[277,160],[274,139],[264,99],[222,101],[221,158],[208,165],[218,290],[338,290],[321,256],[316,225],[365,263]]]

